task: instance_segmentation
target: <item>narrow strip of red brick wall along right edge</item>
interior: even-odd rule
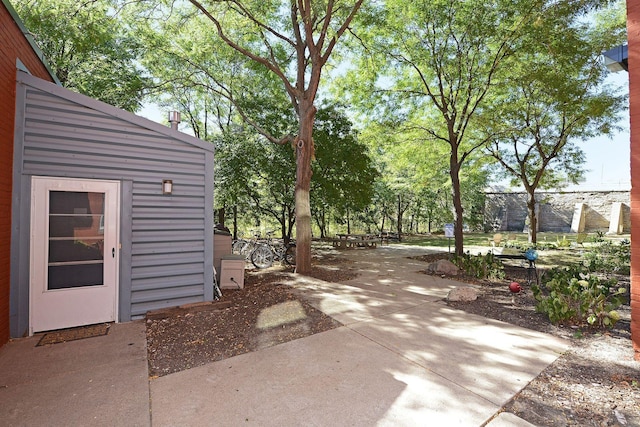
[[[631,118],[631,339],[640,360],[640,2],[627,0]]]

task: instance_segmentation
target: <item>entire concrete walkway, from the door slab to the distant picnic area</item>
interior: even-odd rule
[[[344,251],[363,270],[344,284],[292,276],[344,326],[162,378],[148,380],[142,322],[15,340],[0,349],[0,425],[530,425],[498,411],[567,343],[447,307],[460,284],[420,273],[420,252]]]

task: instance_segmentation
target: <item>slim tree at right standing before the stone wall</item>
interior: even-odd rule
[[[584,154],[577,142],[611,134],[626,106],[626,96],[604,85],[602,44],[588,21],[549,15],[536,31],[486,115],[493,123],[487,152],[527,192],[530,243],[537,242],[536,190],[578,183]]]

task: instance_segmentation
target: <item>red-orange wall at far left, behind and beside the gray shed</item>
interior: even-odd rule
[[[46,67],[0,3],[0,182],[12,182],[13,126],[16,98],[16,59],[31,74],[52,81]],[[11,185],[0,186],[0,346],[9,340],[9,262],[11,243]]]

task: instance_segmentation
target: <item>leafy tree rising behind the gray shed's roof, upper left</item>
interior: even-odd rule
[[[148,81],[140,44],[115,0],[15,0],[16,11],[63,86],[135,112]]]

